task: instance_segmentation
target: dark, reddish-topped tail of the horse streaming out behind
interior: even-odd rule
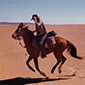
[[[71,54],[71,56],[77,59],[83,59],[82,57],[77,56],[76,47],[70,41],[67,41],[67,43],[68,43],[68,52]]]

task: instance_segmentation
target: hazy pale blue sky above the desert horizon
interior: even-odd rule
[[[33,22],[35,13],[45,24],[85,24],[85,0],[0,0],[0,22]]]

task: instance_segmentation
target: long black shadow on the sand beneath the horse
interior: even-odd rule
[[[40,82],[51,82],[51,81],[58,81],[58,80],[67,80],[69,78],[12,78],[7,80],[1,80],[0,85],[25,85],[25,84],[33,84],[33,83],[40,83]]]

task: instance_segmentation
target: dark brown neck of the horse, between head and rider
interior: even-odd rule
[[[24,33],[23,40],[24,40],[25,46],[31,45],[33,37],[34,36],[31,33],[30,34],[27,32]]]

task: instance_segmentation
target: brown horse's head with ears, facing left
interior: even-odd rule
[[[24,36],[24,31],[27,29],[28,26],[26,26],[24,23],[20,23],[17,30],[12,34],[12,38],[16,40],[21,40]]]

